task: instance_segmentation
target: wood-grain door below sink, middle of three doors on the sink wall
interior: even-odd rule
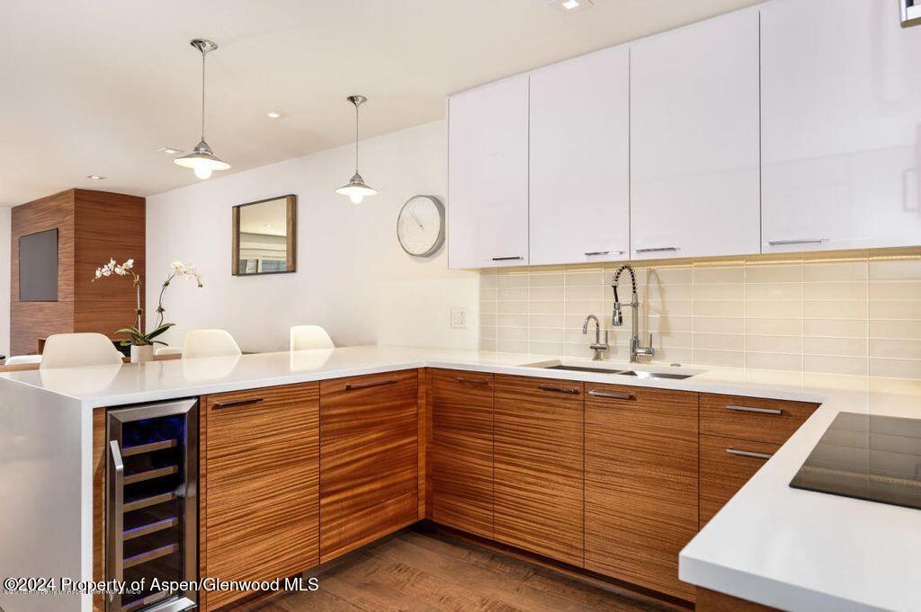
[[[495,376],[495,539],[582,567],[582,383]]]

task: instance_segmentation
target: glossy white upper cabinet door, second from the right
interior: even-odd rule
[[[634,259],[761,252],[758,12],[631,46]]]

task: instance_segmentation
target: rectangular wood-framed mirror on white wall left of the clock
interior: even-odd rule
[[[297,271],[297,196],[233,207],[233,275]]]

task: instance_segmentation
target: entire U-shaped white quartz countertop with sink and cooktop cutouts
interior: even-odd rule
[[[427,366],[814,401],[822,407],[682,550],[682,580],[789,610],[921,611],[921,510],[788,486],[838,412],[921,418],[921,381],[644,365],[635,369],[694,376],[636,379],[527,366],[547,361],[518,353],[350,347],[10,372],[0,375],[0,390],[11,383],[37,387],[89,410]]]

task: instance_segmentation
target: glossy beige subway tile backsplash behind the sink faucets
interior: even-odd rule
[[[591,357],[594,314],[612,360],[629,358],[631,312],[612,328],[620,263],[481,271],[484,351]],[[921,251],[784,254],[635,264],[639,328],[657,364],[921,378]],[[620,296],[630,301],[629,275]]]

